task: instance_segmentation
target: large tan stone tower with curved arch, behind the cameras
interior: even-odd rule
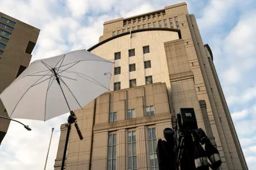
[[[88,49],[115,61],[111,91],[76,111],[84,139],[71,131],[65,168],[156,170],[156,142],[180,108],[194,108],[220,151],[221,169],[248,169],[209,45],[186,3],[104,23]],[[55,169],[67,128],[61,125]]]

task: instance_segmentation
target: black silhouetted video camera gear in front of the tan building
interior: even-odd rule
[[[216,170],[221,166],[220,153],[204,130],[198,129],[193,108],[180,108],[175,129],[166,128],[163,133],[166,141],[157,143],[159,170]]]

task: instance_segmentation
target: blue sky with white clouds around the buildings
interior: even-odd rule
[[[40,29],[32,60],[77,49],[99,41],[103,23],[158,10],[179,0],[0,0],[0,11]],[[256,1],[188,0],[204,43],[212,49],[221,85],[249,169],[256,169]],[[20,120],[32,131],[11,122],[0,146],[0,169],[43,169],[51,129],[47,169],[53,169],[60,125],[68,115],[47,122]]]

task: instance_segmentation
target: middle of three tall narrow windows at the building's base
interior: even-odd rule
[[[128,170],[137,169],[136,131],[128,132]]]

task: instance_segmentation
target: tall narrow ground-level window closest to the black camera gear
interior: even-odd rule
[[[149,154],[149,166],[150,170],[158,170],[158,160],[156,155],[157,139],[156,128],[148,128],[148,154]]]

